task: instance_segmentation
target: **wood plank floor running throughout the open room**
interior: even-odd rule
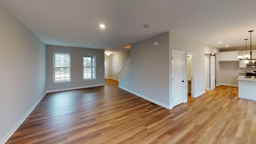
[[[46,94],[7,142],[19,143],[255,144],[256,101],[218,86],[168,110],[106,80]]]

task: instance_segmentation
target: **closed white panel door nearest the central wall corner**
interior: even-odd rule
[[[184,101],[184,52],[172,52],[172,106]]]

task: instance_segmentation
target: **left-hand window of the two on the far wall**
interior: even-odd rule
[[[54,82],[70,82],[70,54],[54,53]]]

